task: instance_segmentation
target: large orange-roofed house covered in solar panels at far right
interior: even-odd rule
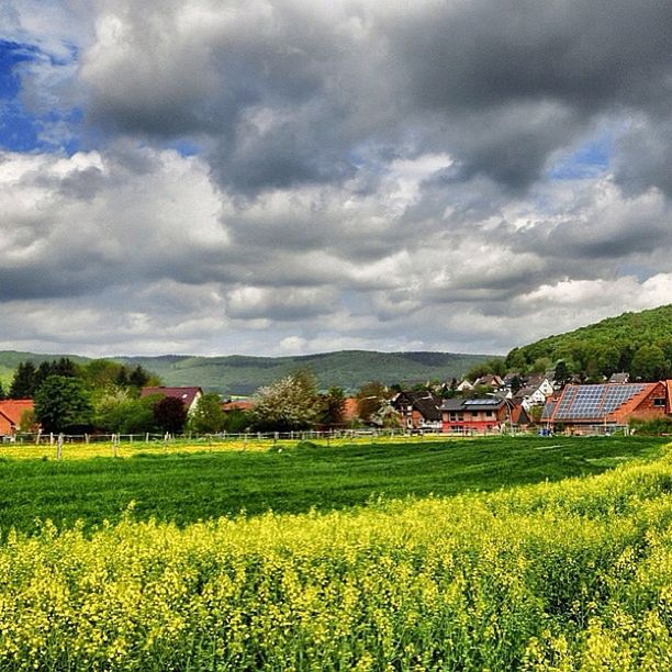
[[[671,381],[652,383],[569,384],[549,400],[541,421],[573,434],[627,425],[631,419],[662,417],[670,410]]]

